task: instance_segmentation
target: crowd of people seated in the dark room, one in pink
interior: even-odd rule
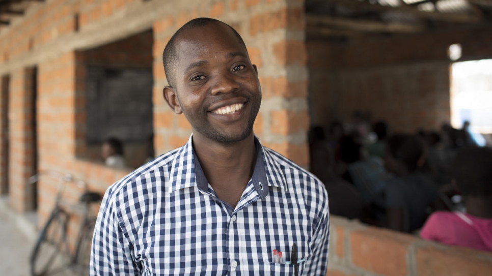
[[[464,128],[390,134],[384,121],[354,117],[309,134],[332,214],[492,251],[492,148]]]

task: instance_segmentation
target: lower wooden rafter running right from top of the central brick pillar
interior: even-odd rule
[[[358,32],[417,33],[422,32],[425,29],[425,26],[422,24],[385,23],[379,21],[339,18],[313,14],[306,15],[306,22],[309,27],[331,26],[342,29],[356,30]]]

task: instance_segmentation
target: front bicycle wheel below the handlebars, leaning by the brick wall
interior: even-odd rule
[[[31,274],[33,276],[55,275],[68,267],[66,256],[67,221],[67,213],[61,210],[51,213],[31,255]]]

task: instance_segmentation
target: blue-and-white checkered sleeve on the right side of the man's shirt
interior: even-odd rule
[[[330,211],[328,203],[318,223],[313,236],[312,257],[306,261],[304,275],[324,275],[328,265],[328,249],[330,242]]]

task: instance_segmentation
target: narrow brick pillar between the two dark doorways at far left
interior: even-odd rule
[[[34,187],[26,180],[34,172],[34,69],[13,72],[9,97],[9,193],[16,211],[34,208]]]

